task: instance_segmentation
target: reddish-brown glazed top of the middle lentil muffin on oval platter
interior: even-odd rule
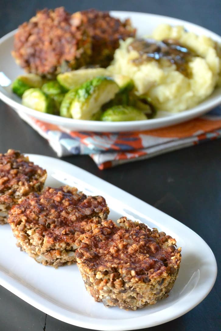
[[[107,218],[109,209],[101,196],[86,196],[76,187],[46,187],[40,195],[30,194],[14,206],[8,222],[35,228],[40,236],[53,242],[73,242],[93,224]],[[23,227],[22,229],[23,230]]]

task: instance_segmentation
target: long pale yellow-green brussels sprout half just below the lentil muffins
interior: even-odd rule
[[[59,75],[57,75],[57,80],[66,90],[71,90],[82,85],[89,79],[107,75],[108,71],[104,68],[88,68],[59,73]]]

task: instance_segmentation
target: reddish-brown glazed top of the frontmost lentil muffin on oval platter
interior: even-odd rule
[[[180,261],[181,249],[176,240],[157,229],[122,217],[120,227],[111,220],[102,221],[76,241],[78,262],[100,272],[119,272],[125,277],[137,277],[148,282],[156,272],[173,273]],[[175,245],[175,246],[174,246]]]

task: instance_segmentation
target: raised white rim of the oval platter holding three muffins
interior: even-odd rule
[[[26,153],[25,153],[26,154]],[[184,315],[185,313],[187,313],[188,311],[190,311],[191,309],[193,309],[194,307],[196,307],[207,295],[208,293],[211,291],[215,280],[216,280],[216,276],[217,276],[217,264],[216,264],[216,259],[215,256],[212,252],[212,250],[210,249],[210,247],[208,246],[208,244],[197,234],[195,233],[192,229],[190,229],[189,227],[187,227],[185,224],[179,222],[178,220],[174,219],[173,217],[167,215],[166,213],[163,213],[162,211],[159,211],[158,209],[156,209],[155,207],[147,204],[146,202],[138,199],[137,197],[133,196],[132,194],[118,188],[117,186],[114,186],[111,183],[108,183],[107,181],[89,173],[88,171],[81,169],[75,165],[72,165],[66,161],[60,160],[60,159],[56,159],[53,157],[48,157],[48,156],[44,156],[44,155],[37,155],[37,154],[26,154],[29,156],[30,160],[32,158],[36,158],[36,159],[41,159],[43,163],[48,164],[47,160],[50,162],[53,162],[54,167],[59,167],[59,165],[64,166],[65,168],[65,172],[67,172],[67,174],[69,174],[69,169],[74,169],[75,173],[76,172],[81,172],[82,173],[82,177],[83,177],[83,181],[86,182],[87,177],[91,178],[92,181],[92,185],[93,185],[93,180],[96,180],[96,187],[98,187],[98,189],[102,187],[105,183],[106,187],[107,187],[107,192],[109,192],[109,188],[116,191],[114,194],[114,196],[118,196],[120,194],[120,196],[126,196],[127,198],[133,198],[133,200],[139,205],[147,205],[146,207],[148,207],[148,209],[150,211],[154,211],[154,213],[159,214],[161,216],[166,217],[170,222],[172,222],[172,224],[174,224],[175,226],[175,230],[176,231],[176,227],[181,227],[181,229],[186,229],[188,230],[189,233],[191,233],[195,238],[197,238],[198,240],[200,240],[201,244],[204,245],[205,250],[207,251],[207,253],[210,254],[210,261],[211,264],[213,266],[213,277],[209,278],[209,286],[207,286],[206,291],[205,289],[203,292],[203,295],[200,297],[200,300],[195,300],[194,302],[191,302],[191,305],[189,304],[188,307],[186,307],[186,309],[178,309],[178,312],[176,309],[174,309],[173,314],[169,315],[169,317],[167,316],[167,318],[164,318],[163,320],[159,321],[159,317],[157,318],[157,316],[159,315],[159,313],[162,313],[162,311],[165,310],[169,310],[171,307],[173,307],[174,305],[177,304],[177,302],[172,303],[169,307],[166,307],[162,310],[156,311],[154,313],[151,314],[151,316],[155,315],[155,320],[152,321],[152,323],[148,324],[147,323],[147,319],[146,319],[146,314],[144,316],[137,316],[137,317],[133,317],[133,318],[129,318],[129,319],[117,319],[115,320],[111,320],[110,319],[101,319],[101,318],[97,318],[97,317],[85,317],[82,318],[82,314],[80,313],[75,313],[75,312],[71,312],[71,314],[73,316],[75,316],[74,318],[70,318],[67,314],[65,315],[64,312],[67,312],[68,310],[63,308],[63,307],[59,307],[58,305],[56,305],[55,303],[52,303],[51,301],[47,300],[46,298],[44,298],[43,296],[37,294],[36,292],[33,292],[31,289],[29,289],[27,286],[23,285],[21,282],[18,282],[18,280],[12,278],[12,276],[7,275],[6,273],[4,273],[3,271],[0,270],[0,284],[2,286],[4,286],[6,289],[8,289],[9,291],[11,291],[12,293],[14,293],[15,295],[17,295],[18,297],[20,297],[21,299],[23,299],[24,301],[26,301],[28,304],[32,305],[33,307],[57,318],[60,319],[61,321],[70,323],[72,325],[76,325],[76,326],[80,326],[80,327],[84,327],[84,328],[92,328],[94,330],[106,330],[106,331],[123,331],[123,330],[135,330],[135,329],[141,329],[141,328],[146,328],[146,327],[152,327],[155,325],[160,325],[166,322],[169,322],[170,320],[173,320],[175,318],[178,318],[182,315]],[[46,167],[47,168],[47,167]],[[69,169],[67,169],[69,168]],[[112,193],[113,195],[113,193]],[[162,224],[162,223],[161,223]],[[180,230],[181,231],[181,230]],[[196,285],[197,287],[197,285]],[[191,292],[192,293],[192,292]],[[185,299],[187,299],[189,295],[187,295],[184,298],[181,298],[181,303],[184,302],[185,303]],[[45,301],[46,300],[46,301]],[[189,301],[188,301],[189,303]],[[180,305],[182,306],[182,305]],[[176,306],[177,308],[177,306]],[[111,308],[110,308],[111,309]],[[176,312],[175,312],[176,311]],[[150,315],[149,315],[150,316]],[[83,320],[82,320],[83,319]],[[106,321],[106,323],[105,323]],[[128,322],[128,323],[127,323]],[[127,325],[129,324],[129,325]]]

